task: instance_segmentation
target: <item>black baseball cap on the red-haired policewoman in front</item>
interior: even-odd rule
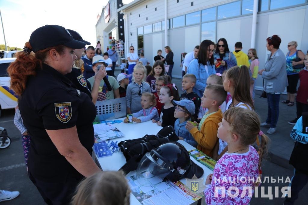
[[[57,45],[73,49],[81,49],[86,45],[85,42],[75,40],[67,29],[58,25],[39,27],[32,32],[29,42],[34,53]]]

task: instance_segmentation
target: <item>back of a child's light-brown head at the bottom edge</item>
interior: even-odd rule
[[[122,171],[100,171],[79,183],[72,205],[129,205],[130,187]]]

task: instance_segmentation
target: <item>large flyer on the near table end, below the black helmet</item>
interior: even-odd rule
[[[127,177],[127,179],[132,194],[144,205],[186,205],[204,197],[203,192],[193,193],[180,181],[163,181],[149,173],[144,174],[144,177],[141,178],[136,178],[133,175]]]

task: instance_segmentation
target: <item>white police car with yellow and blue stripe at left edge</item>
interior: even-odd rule
[[[16,58],[0,59],[0,116],[4,109],[15,108],[17,106],[17,96],[10,89],[10,77],[7,73],[7,68]]]

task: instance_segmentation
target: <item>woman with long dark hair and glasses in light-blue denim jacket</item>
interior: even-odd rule
[[[216,74],[213,57],[214,51],[215,47],[212,41],[202,41],[199,46],[197,58],[193,59],[187,68],[187,73],[194,74],[197,78],[193,91],[197,93],[199,97],[203,96],[208,77],[212,74]]]

